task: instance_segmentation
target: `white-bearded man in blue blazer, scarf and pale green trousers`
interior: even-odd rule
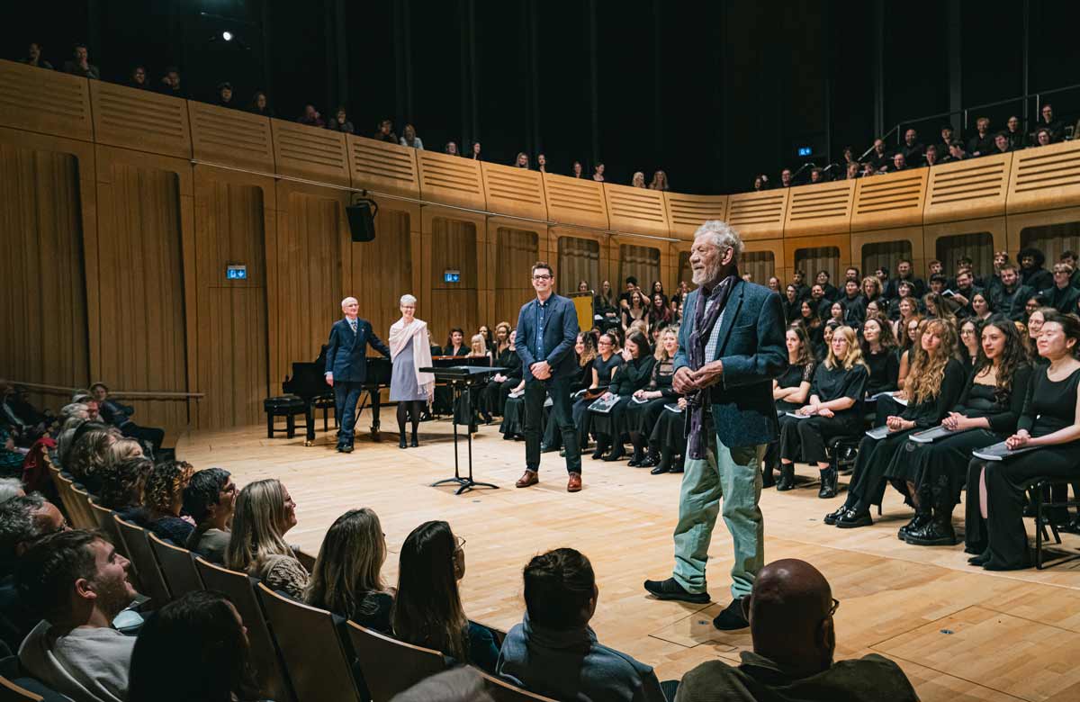
[[[742,598],[765,565],[761,458],[779,434],[772,379],[787,367],[780,297],[742,280],[743,243],[726,222],[698,228],[690,267],[698,289],[687,297],[672,384],[687,395],[686,472],[675,526],[675,568],[646,580],[660,599],[707,604],[705,563],[720,513],[731,532],[731,604],[713,620],[720,630],[747,626]]]

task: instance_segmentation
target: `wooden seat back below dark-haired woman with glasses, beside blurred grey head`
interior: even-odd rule
[[[346,631],[372,702],[389,702],[399,692],[446,669],[440,651],[400,642],[352,621],[346,622]]]

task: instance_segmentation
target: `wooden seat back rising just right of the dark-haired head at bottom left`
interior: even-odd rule
[[[240,612],[247,627],[247,640],[252,650],[252,665],[255,666],[255,679],[259,683],[260,697],[275,702],[292,702],[295,700],[281,652],[273,640],[270,627],[267,625],[262,608],[255,598],[252,579],[245,573],[229,570],[221,566],[195,556],[195,570],[206,590],[225,593],[232,606]]]

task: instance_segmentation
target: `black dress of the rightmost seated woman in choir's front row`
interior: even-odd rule
[[[1076,423],[1077,386],[1080,368],[1059,381],[1047,375],[1049,366],[1037,367],[1016,423],[1032,437],[1045,436]],[[986,513],[982,518],[977,489],[968,490],[968,550],[985,543],[989,556],[984,568],[1016,570],[1027,568],[1031,555],[1024,529],[1025,490],[1040,477],[1080,480],[1080,441],[1044,446],[1003,461],[974,459],[968,467],[968,485],[986,483]],[[975,536],[973,536],[975,535]],[[985,535],[985,536],[984,536]]]

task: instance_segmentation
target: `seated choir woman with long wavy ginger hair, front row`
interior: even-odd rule
[[[848,499],[825,517],[826,524],[841,529],[874,524],[870,505],[881,504],[885,476],[907,436],[939,424],[960,399],[967,374],[956,360],[956,327],[943,320],[927,323],[904,386],[907,406],[886,420],[889,433],[883,438],[863,437],[848,485]]]

